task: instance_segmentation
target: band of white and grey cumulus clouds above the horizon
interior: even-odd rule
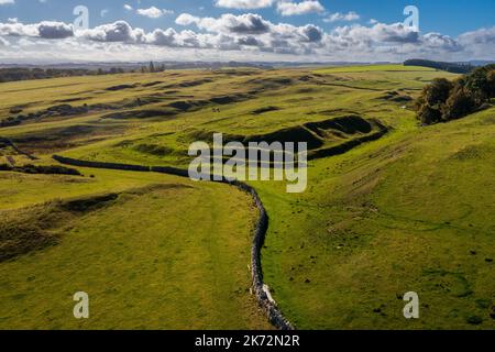
[[[237,57],[235,53],[244,53],[239,54],[241,59],[266,55],[277,59],[311,55],[311,58],[320,61],[356,61],[356,57],[360,61],[397,61],[404,57],[463,61],[495,56],[495,28],[451,37],[435,32],[421,34],[402,23],[350,24],[326,32],[315,24],[274,23],[254,13],[226,13],[218,18],[183,13],[175,22],[197,30],[169,28],[147,32],[125,21],[117,21],[75,31],[72,24],[63,22],[23,24],[11,20],[0,23],[0,58],[10,53],[12,57],[25,55],[25,59],[36,59],[34,47],[51,47],[50,55],[54,59],[81,52],[81,57],[88,61],[101,59],[101,52],[108,57],[117,56],[118,51],[122,55],[130,51],[136,56],[153,52],[169,57],[191,50],[195,57],[204,57],[200,53],[208,53],[208,57],[213,59],[231,59]],[[109,51],[112,51],[111,55]],[[183,55],[178,59],[184,57],[189,56]]]

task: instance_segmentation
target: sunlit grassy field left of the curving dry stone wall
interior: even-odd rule
[[[248,195],[82,172],[95,178],[1,175],[0,329],[270,328],[249,295]],[[79,290],[89,320],[73,317]]]

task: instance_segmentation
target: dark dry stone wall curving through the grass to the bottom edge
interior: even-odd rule
[[[168,166],[142,166],[132,164],[119,164],[119,163],[102,163],[102,162],[89,162],[81,161],[70,157],[65,157],[61,155],[53,155],[53,160],[61,164],[90,167],[90,168],[107,168],[107,169],[120,169],[120,170],[133,170],[133,172],[153,172],[161,174],[175,175],[180,177],[189,177],[187,170],[168,167]],[[260,211],[258,219],[254,228],[253,245],[251,248],[251,277],[253,284],[253,292],[256,296],[256,300],[260,307],[264,310],[270,322],[277,329],[280,330],[294,330],[295,327],[283,316],[282,311],[278,309],[276,302],[268,297],[268,293],[265,290],[265,285],[263,283],[263,270],[261,264],[261,250],[263,243],[265,242],[266,231],[268,229],[268,215],[266,213],[265,207],[257,195],[256,190],[250,185],[233,180],[230,182],[226,178],[221,180],[213,180],[215,183],[227,184],[234,186],[238,189],[245,191],[251,195],[253,201]]]

